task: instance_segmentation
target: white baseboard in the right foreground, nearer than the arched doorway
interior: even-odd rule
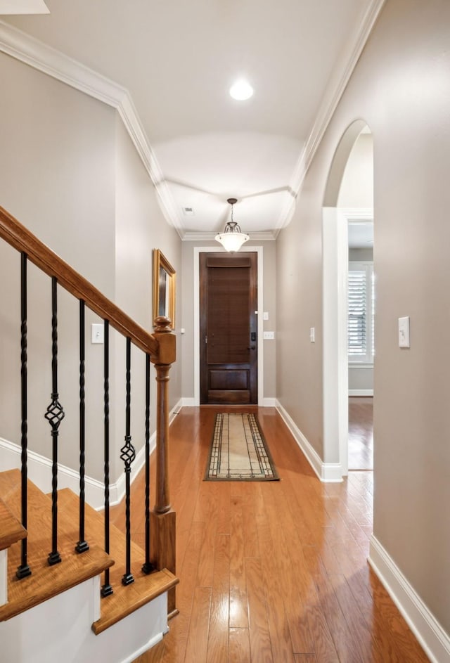
[[[450,637],[380,541],[371,536],[368,562],[432,663],[450,663]]]

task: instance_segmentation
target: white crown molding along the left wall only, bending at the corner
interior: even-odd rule
[[[129,91],[4,21],[0,21],[0,51],[117,110],[155,186],[162,214],[181,236],[179,214]]]

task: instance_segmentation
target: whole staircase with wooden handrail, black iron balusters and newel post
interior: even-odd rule
[[[13,400],[20,403],[17,422],[20,446],[17,449],[21,465],[20,470],[8,469],[15,465],[4,465],[7,471],[0,472],[0,663],[90,663],[96,660],[131,663],[160,641],[168,630],[168,617],[177,612],[174,589],[178,582],[174,575],[176,515],[169,502],[167,472],[168,382],[169,369],[175,361],[175,337],[168,318],[155,319],[153,334],[141,328],[1,207],[0,240],[20,252],[20,317],[16,320],[8,310],[11,319],[0,327],[0,345],[4,345],[0,349],[11,352],[16,345],[13,334],[18,330],[18,375],[11,380],[13,386],[10,387],[8,381],[8,389],[13,390]],[[28,368],[28,263],[37,266],[51,281],[51,394],[44,413],[51,437],[49,495],[28,479],[28,428],[32,430],[34,426],[34,420],[28,419],[28,400],[39,390],[39,375],[32,375],[30,380]],[[67,290],[79,304],[79,325],[73,330],[75,344],[72,342],[64,348],[64,352],[69,352],[69,347],[77,347],[78,343],[79,373],[70,375],[79,388],[78,439],[72,439],[72,444],[77,443],[79,466],[70,468],[79,479],[77,494],[70,489],[58,490],[58,434],[60,425],[63,430],[65,418],[61,404],[65,394],[61,394],[60,399],[58,393],[60,288]],[[90,412],[91,407],[86,408],[84,388],[84,345],[88,335],[85,309],[101,317],[105,337],[102,513],[86,503],[85,457],[89,446],[86,444],[86,409]],[[125,435],[120,449],[117,441],[110,439],[109,371],[110,361],[113,361],[110,332],[124,337],[126,343],[122,369],[126,396]],[[132,345],[141,351],[139,361],[145,366],[145,382],[141,381],[137,387],[142,396],[145,395],[145,431],[141,436],[145,441],[141,449],[145,452],[144,550],[131,541],[131,464],[136,458],[130,426]],[[157,386],[153,510],[150,510],[150,363],[155,367]],[[6,376],[0,375],[1,379]],[[29,388],[29,382],[34,385],[33,389]],[[71,405],[73,408],[73,401]],[[73,432],[73,418],[71,428]],[[98,445],[98,440],[91,444]],[[111,453],[120,457],[124,465],[124,532],[110,523]]]

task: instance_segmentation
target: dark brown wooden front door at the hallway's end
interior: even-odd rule
[[[257,404],[257,253],[200,253],[200,403]]]

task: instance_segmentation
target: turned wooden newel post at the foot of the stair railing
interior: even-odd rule
[[[156,499],[150,514],[150,559],[158,570],[168,569],[175,574],[175,526],[176,514],[169,498],[169,371],[175,361],[175,336],[171,333],[169,318],[155,319],[155,337],[159,352],[155,357],[157,382],[156,410]],[[175,588],[167,593],[167,613],[178,612],[175,604]]]

